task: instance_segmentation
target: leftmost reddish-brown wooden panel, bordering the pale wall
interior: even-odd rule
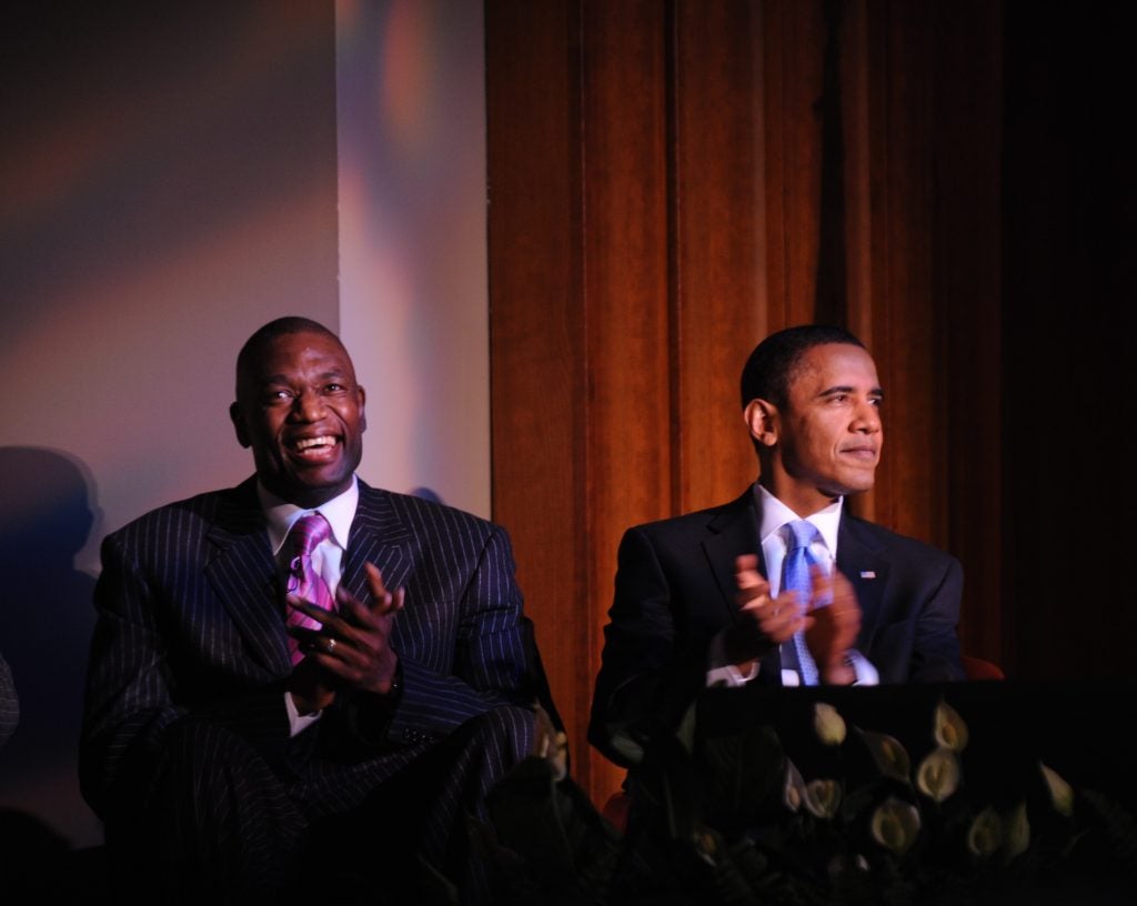
[[[493,516],[582,756],[591,689],[580,66],[574,3],[485,8]]]

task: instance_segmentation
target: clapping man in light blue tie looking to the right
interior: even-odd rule
[[[882,397],[872,358],[844,330],[790,327],[752,352],[741,402],[757,482],[723,506],[634,526],[620,545],[589,724],[616,764],[639,765],[708,685],[964,678],[958,562],[844,507],[872,487]],[[802,520],[814,533],[810,588],[783,591],[787,526]]]

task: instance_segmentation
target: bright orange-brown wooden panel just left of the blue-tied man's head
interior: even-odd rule
[[[757,474],[738,381],[767,331],[761,30],[762,5],[752,0],[677,3],[677,512],[730,500]]]

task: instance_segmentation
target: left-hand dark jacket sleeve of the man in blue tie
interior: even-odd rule
[[[589,742],[624,767],[672,733],[706,682],[707,639],[679,625],[677,589],[641,529],[624,533],[589,721]]]

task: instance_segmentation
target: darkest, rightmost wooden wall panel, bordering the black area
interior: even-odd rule
[[[1018,668],[1003,593],[1003,16],[989,0],[938,5],[932,285],[948,380],[936,440],[946,462],[945,547],[966,566],[965,651]]]

